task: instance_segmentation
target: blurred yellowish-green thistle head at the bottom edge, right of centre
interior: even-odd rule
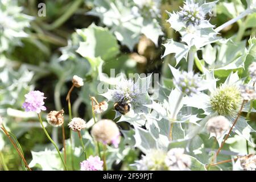
[[[138,171],[163,171],[168,169],[165,159],[166,152],[152,149],[143,155],[141,160],[136,161],[135,166]]]

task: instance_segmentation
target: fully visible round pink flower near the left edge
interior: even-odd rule
[[[22,107],[25,109],[26,112],[28,111],[36,111],[36,113],[40,113],[41,110],[46,110],[44,106],[44,93],[38,90],[30,91],[28,94],[25,95],[26,100],[23,103]]]

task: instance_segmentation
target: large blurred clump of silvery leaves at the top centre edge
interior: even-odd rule
[[[99,16],[102,22],[121,42],[132,50],[138,43],[141,34],[151,39],[158,46],[158,37],[163,35],[162,30],[154,17],[145,17],[133,12],[133,1],[94,1],[94,9],[89,15]],[[150,21],[148,21],[150,19]]]

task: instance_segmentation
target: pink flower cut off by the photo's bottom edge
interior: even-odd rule
[[[103,161],[99,156],[89,156],[87,160],[80,163],[81,171],[102,171]]]

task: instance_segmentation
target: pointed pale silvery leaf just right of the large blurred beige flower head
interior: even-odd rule
[[[144,154],[148,150],[157,148],[156,140],[152,137],[149,131],[142,129],[141,127],[134,126],[135,129],[135,147],[138,147]]]

